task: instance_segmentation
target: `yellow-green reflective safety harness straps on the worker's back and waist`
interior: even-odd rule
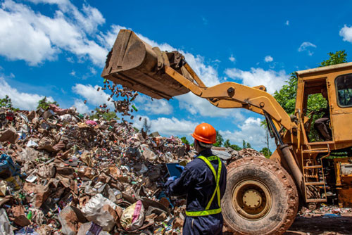
[[[204,216],[204,215],[218,214],[218,213],[221,212],[220,186],[219,186],[220,175],[221,175],[221,167],[222,167],[221,160],[217,156],[211,156],[211,157],[208,157],[208,158],[206,158],[204,156],[199,156],[198,158],[203,160],[206,163],[206,165],[208,165],[210,170],[213,172],[214,178],[215,178],[215,182],[216,182],[215,191],[213,193],[213,196],[211,196],[210,201],[208,202],[208,205],[206,205],[206,210],[186,211],[186,215],[187,216]],[[211,160],[218,160],[218,174],[216,174],[213,165],[211,165],[211,163],[210,163]],[[220,208],[209,210],[211,203],[213,203],[215,194],[218,194],[218,205],[219,205]]]

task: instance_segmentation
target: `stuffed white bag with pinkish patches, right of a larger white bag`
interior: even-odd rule
[[[121,215],[120,223],[126,231],[133,231],[142,227],[144,222],[144,207],[142,201],[137,201],[126,208]]]

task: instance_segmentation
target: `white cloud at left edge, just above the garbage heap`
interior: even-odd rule
[[[38,101],[44,98],[39,94],[18,91],[18,89],[11,87],[4,77],[0,77],[0,98],[2,99],[6,95],[10,97],[13,107],[23,110],[36,110]],[[51,102],[54,101],[51,96],[46,97],[46,99]]]

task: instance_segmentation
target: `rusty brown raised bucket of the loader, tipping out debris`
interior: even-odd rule
[[[101,77],[155,99],[170,99],[189,92],[163,70],[164,65],[170,65],[192,80],[182,68],[182,60],[183,56],[177,51],[160,51],[139,39],[131,30],[120,30]]]

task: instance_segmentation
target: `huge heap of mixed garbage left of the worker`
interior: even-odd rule
[[[227,162],[240,153],[214,149]],[[0,234],[182,234],[185,198],[168,198],[165,163],[195,152],[123,120],[75,108],[0,109]]]

